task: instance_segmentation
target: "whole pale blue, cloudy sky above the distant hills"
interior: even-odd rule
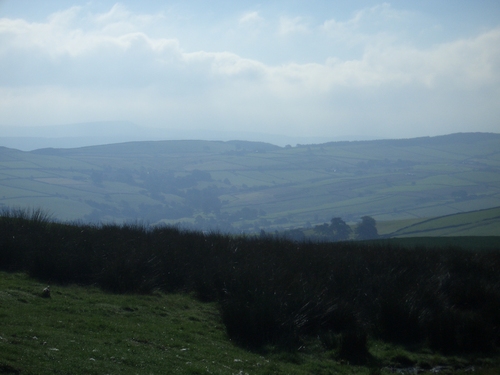
[[[500,133],[500,2],[0,0],[0,126],[102,121]]]

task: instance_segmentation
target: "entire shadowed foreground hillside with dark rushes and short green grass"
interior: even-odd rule
[[[498,373],[498,248],[389,241],[4,214],[0,373]]]

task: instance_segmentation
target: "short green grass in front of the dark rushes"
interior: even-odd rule
[[[116,295],[51,286],[0,272],[0,373],[5,374],[372,374],[448,366],[493,374],[487,357],[445,357],[370,341],[370,362],[349,364],[337,344],[310,339],[299,351],[249,351],[232,342],[215,303],[186,294]],[[334,338],[334,340],[336,340]],[[378,372],[380,371],[380,372]]]

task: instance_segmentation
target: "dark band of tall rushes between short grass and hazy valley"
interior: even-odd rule
[[[297,243],[141,225],[0,215],[0,269],[116,293],[194,293],[217,301],[228,335],[294,349],[320,337],[340,358],[369,358],[368,337],[445,353],[500,344],[500,251]]]

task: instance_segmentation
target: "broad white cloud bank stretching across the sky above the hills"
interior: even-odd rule
[[[73,7],[45,22],[2,18],[0,70],[9,74],[0,76],[0,124],[126,119],[187,128],[261,126],[291,135],[409,136],[401,124],[444,133],[464,131],[475,119],[482,129],[500,131],[500,28],[426,48],[379,26],[380,32],[367,31],[407,16],[384,4],[316,29],[304,18],[279,18],[279,35],[262,36],[276,50],[283,36],[297,33],[308,42],[326,34],[361,47],[349,59],[331,53],[281,64],[230,49],[186,51],[184,34],[151,31],[163,15],[136,15],[119,5],[101,14]],[[264,23],[257,12],[235,19],[251,27]]]

